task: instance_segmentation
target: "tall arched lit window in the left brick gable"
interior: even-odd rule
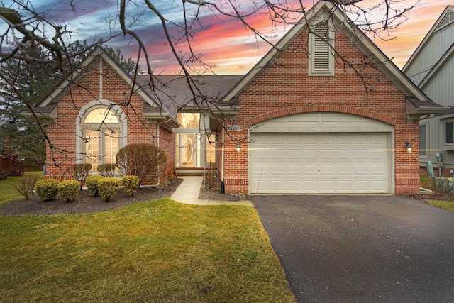
[[[90,109],[82,118],[84,162],[96,171],[99,164],[115,163],[121,148],[121,122],[115,111],[105,106]]]

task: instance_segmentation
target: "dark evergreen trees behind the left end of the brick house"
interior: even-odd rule
[[[135,62],[125,59],[120,50],[103,48],[131,73]],[[84,41],[68,48],[70,62],[65,70],[77,66],[93,49]],[[52,56],[41,45],[26,45],[22,57],[13,57],[0,64],[0,154],[18,155],[26,166],[45,164],[45,136],[32,117],[24,116],[29,106],[36,106],[60,83],[62,75],[55,69]],[[33,60],[30,60],[33,58]]]

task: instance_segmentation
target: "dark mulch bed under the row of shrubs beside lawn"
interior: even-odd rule
[[[118,192],[109,202],[102,202],[100,197],[90,196],[87,190],[79,193],[74,202],[66,202],[65,199],[57,197],[55,200],[43,202],[37,195],[28,200],[19,199],[0,205],[0,214],[84,214],[118,207],[128,206],[136,202],[147,202],[160,198],[170,198],[173,192],[181,184],[182,179],[175,179],[172,183],[157,188],[139,188],[134,196],[118,189]]]

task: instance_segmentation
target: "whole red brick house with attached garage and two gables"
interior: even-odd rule
[[[307,17],[317,35],[294,26],[244,77],[194,77],[203,102],[192,101],[182,77],[157,77],[154,89],[139,77],[128,106],[132,79],[96,48],[37,107],[54,121],[55,145],[77,152],[54,150],[57,163],[112,162],[117,148],[148,142],[165,148],[179,173],[216,162],[226,193],[419,191],[419,157],[407,148],[419,142],[419,117],[445,108],[333,4],[319,1]],[[98,158],[82,156],[94,150]],[[57,174],[51,156],[48,172]]]

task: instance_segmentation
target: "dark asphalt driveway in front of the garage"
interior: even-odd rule
[[[299,302],[454,302],[453,213],[399,196],[255,206]]]

